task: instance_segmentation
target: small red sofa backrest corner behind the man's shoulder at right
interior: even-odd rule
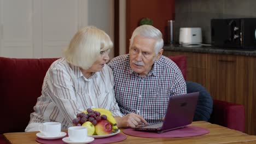
[[[181,69],[184,79],[187,80],[187,58],[185,56],[173,56],[168,58],[172,59],[172,61],[177,64],[179,69]]]

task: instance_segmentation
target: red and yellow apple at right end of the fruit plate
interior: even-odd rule
[[[102,120],[95,125],[97,135],[107,135],[112,131],[112,125],[107,120]]]

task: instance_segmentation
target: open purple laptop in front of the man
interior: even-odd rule
[[[184,128],[193,122],[198,97],[199,92],[172,96],[169,99],[163,122],[137,125],[133,129],[162,133],[173,129]]]

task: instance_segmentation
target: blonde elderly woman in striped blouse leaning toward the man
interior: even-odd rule
[[[25,131],[38,131],[43,122],[60,122],[67,129],[77,113],[94,107],[112,111],[121,121],[123,115],[114,97],[112,69],[106,64],[112,47],[109,36],[100,29],[93,26],[80,29],[64,57],[47,71],[42,95]]]

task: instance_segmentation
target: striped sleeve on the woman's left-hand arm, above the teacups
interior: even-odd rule
[[[68,123],[79,113],[72,77],[64,68],[51,68],[48,75],[49,97],[54,101]]]

